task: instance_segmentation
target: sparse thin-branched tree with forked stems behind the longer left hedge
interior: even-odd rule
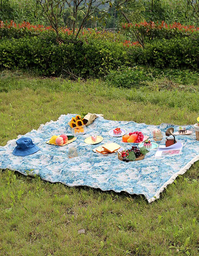
[[[59,41],[59,31],[63,28],[63,12],[67,10],[70,15],[68,18],[72,20],[73,36],[76,39],[81,28],[88,20],[103,19],[108,15],[111,8],[119,10],[123,4],[129,0],[119,0],[117,5],[113,5],[112,0],[35,0],[40,4],[42,11],[49,21],[50,25],[56,31],[57,40]],[[81,13],[81,15],[79,15]],[[96,15],[98,14],[98,15]],[[98,18],[98,17],[100,18]],[[78,31],[75,35],[77,18],[79,17]]]

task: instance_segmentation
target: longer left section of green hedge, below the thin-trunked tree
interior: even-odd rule
[[[41,75],[98,76],[130,64],[129,59],[123,44],[102,40],[59,45],[33,36],[0,41],[1,68],[32,68]]]

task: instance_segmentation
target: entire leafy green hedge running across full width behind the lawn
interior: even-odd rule
[[[31,68],[45,76],[71,72],[96,77],[122,65],[195,70],[199,67],[199,40],[192,37],[154,40],[144,50],[108,40],[82,42],[59,45],[50,35],[4,38],[0,40],[0,68]]]

